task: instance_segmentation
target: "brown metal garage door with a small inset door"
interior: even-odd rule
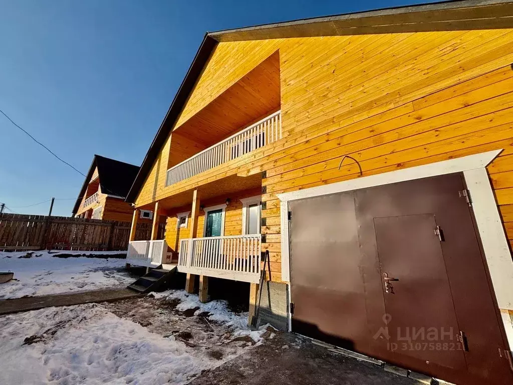
[[[292,331],[457,383],[507,383],[460,174],[289,203]]]

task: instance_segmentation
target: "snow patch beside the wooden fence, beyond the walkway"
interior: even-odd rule
[[[14,272],[16,279],[0,285],[0,299],[126,286],[134,278],[125,271],[125,259],[108,258],[124,253],[0,252],[0,272]],[[63,254],[73,256],[57,257]],[[101,258],[81,256],[90,254]]]

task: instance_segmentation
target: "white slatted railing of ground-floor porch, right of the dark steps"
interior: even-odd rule
[[[183,273],[259,282],[260,234],[182,239],[178,269]]]

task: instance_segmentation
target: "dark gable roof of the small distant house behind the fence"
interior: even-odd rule
[[[128,191],[139,172],[139,166],[133,164],[116,161],[114,159],[105,158],[100,155],[95,155],[87,172],[86,179],[78,194],[75,206],[73,207],[73,215],[78,211],[82,197],[86,194],[87,185],[91,181],[95,168],[98,168],[98,178],[100,178],[100,187],[104,194],[113,195],[116,197],[126,198]]]

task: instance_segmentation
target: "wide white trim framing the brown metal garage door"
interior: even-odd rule
[[[502,149],[482,152],[457,159],[278,194],[278,198],[281,201],[282,281],[290,282],[290,251],[288,242],[288,203],[290,201],[463,172],[472,199],[472,210],[476,218],[499,309],[513,310],[513,290],[511,290],[511,287],[513,287],[513,261],[511,261],[508,241],[486,171],[486,166],[501,151]],[[505,327],[507,330],[508,328],[511,330],[511,325],[505,324]],[[513,347],[513,335],[509,336],[508,339],[510,347]]]

